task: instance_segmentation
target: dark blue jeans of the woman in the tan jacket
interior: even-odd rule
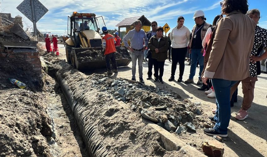
[[[214,88],[217,106],[214,116],[214,121],[216,122],[214,129],[218,133],[227,134],[227,127],[231,118],[230,89],[237,81],[212,78],[211,82]]]

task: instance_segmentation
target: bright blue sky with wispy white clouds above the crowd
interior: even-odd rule
[[[24,29],[32,27],[32,22],[16,8],[23,0],[0,0],[0,12],[11,13],[12,17],[23,17]],[[41,32],[64,35],[67,32],[68,16],[78,13],[95,13],[103,16],[108,29],[115,27],[124,18],[144,15],[148,20],[157,21],[158,26],[177,25],[177,17],[183,16],[184,25],[192,30],[193,14],[203,10],[207,22],[212,24],[216,15],[221,13],[222,0],[39,0],[49,11],[37,22]],[[249,9],[260,10],[259,26],[267,29],[267,0],[248,0]],[[33,28],[33,27],[32,27]],[[121,29],[122,30],[122,29]],[[125,29],[124,29],[125,30]],[[171,30],[170,30],[171,31]]]

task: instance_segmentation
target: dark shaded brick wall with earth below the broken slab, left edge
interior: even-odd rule
[[[32,90],[42,89],[41,60],[36,49],[0,47],[0,70]]]

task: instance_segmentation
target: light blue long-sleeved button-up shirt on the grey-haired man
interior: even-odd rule
[[[123,38],[123,43],[126,47],[129,47],[127,41],[130,40],[131,47],[137,50],[140,50],[147,46],[148,39],[146,37],[145,31],[143,29],[139,30],[139,32],[136,31],[136,29],[130,30],[127,35]]]

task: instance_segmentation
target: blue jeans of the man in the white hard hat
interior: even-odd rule
[[[201,49],[191,49],[191,67],[189,79],[193,79],[196,74],[197,62],[199,60],[199,80],[201,79],[201,73],[204,68],[204,56],[201,53]]]

